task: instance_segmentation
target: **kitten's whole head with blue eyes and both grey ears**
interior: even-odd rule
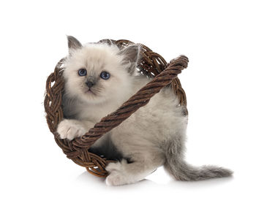
[[[69,56],[64,64],[65,93],[91,104],[129,95],[132,80],[138,73],[139,45],[120,50],[107,43],[81,45],[75,37],[68,36],[67,39]]]

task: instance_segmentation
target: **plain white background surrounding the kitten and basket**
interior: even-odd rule
[[[1,1],[0,202],[255,202],[254,1]],[[180,54],[187,161],[233,177],[182,183],[162,168],[109,187],[67,159],[45,122],[45,80],[80,42],[129,39],[167,61]]]

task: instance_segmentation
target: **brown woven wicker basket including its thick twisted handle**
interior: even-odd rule
[[[128,40],[115,41],[103,39],[98,43],[101,42],[114,43],[120,48],[134,44]],[[98,177],[106,177],[108,172],[105,170],[105,166],[109,162],[113,162],[112,160],[107,160],[102,156],[98,156],[88,151],[90,146],[93,145],[99,137],[102,137],[103,134],[118,126],[140,107],[146,105],[150,98],[166,85],[170,85],[170,88],[173,88],[173,92],[178,96],[180,104],[185,107],[187,106],[186,94],[181,88],[181,83],[178,80],[177,74],[181,73],[182,69],[187,68],[188,58],[181,55],[167,64],[161,55],[154,53],[145,45],[141,45],[141,54],[143,55],[139,64],[141,72],[149,77],[154,77],[154,80],[151,80],[150,83],[141,88],[140,91],[135,93],[135,95],[127,102],[122,104],[118,110],[105,118],[102,118],[102,120],[100,120],[99,123],[96,123],[94,128],[89,129],[83,137],[78,137],[72,141],[60,139],[59,134],[56,133],[57,126],[63,118],[61,96],[64,90],[64,79],[62,74],[65,58],[62,58],[61,61],[59,61],[54,72],[50,74],[46,81],[44,103],[46,120],[50,131],[54,135],[56,143],[67,155],[67,158],[72,159],[72,161],[80,166],[86,167],[91,174],[97,175]],[[187,112],[184,113],[187,114]]]

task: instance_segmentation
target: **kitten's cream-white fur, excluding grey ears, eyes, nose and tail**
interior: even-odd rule
[[[85,133],[102,117],[116,110],[149,79],[141,75],[129,75],[124,65],[124,55],[118,55],[114,45],[87,44],[72,50],[65,64],[64,78],[67,96],[79,100],[75,111],[78,121],[63,120],[58,126],[61,138],[73,139]],[[85,93],[88,88],[84,78],[78,75],[78,69],[85,67],[88,74],[99,77],[102,70],[110,72],[109,80],[99,79],[94,89],[95,95]],[[108,185],[123,185],[142,180],[157,167],[165,164],[163,148],[176,137],[182,140],[187,127],[187,118],[178,107],[178,99],[170,91],[157,93],[145,107],[124,120],[110,131],[110,139],[124,157],[130,158],[132,164],[123,160],[107,166],[110,175]],[[105,137],[94,145],[104,145]]]

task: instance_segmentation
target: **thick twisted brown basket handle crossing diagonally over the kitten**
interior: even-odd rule
[[[102,137],[103,134],[129,118],[129,116],[140,107],[148,104],[152,96],[158,93],[166,85],[169,85],[173,78],[177,77],[177,75],[181,73],[181,70],[187,68],[188,62],[189,60],[185,55],[181,55],[170,61],[164,71],[154,77],[151,82],[141,88],[127,102],[124,102],[118,110],[102,118],[99,123],[95,124],[94,128],[89,129],[89,131],[82,137],[74,139],[72,143],[70,143],[72,144],[72,147],[76,151],[88,150],[91,145],[97,141],[97,139]],[[69,154],[69,156],[70,155],[71,154]]]

